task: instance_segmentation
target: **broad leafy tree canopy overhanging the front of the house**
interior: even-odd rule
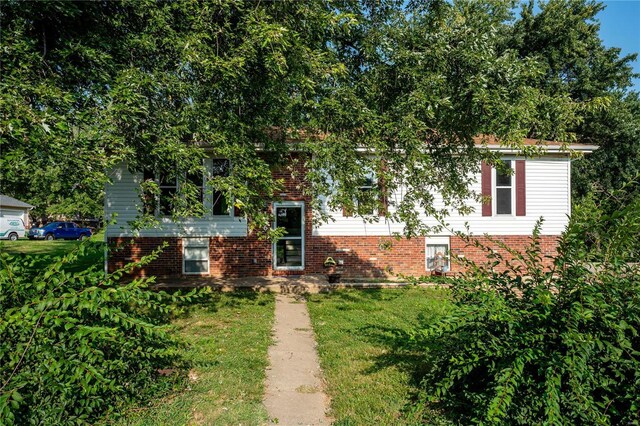
[[[94,211],[114,164],[182,179],[207,146],[234,164],[217,189],[269,229],[269,164],[289,162],[294,136],[313,156],[311,194],[353,209],[374,170],[384,185],[359,205],[386,197],[407,234],[424,232],[415,204],[444,217],[439,192],[465,211],[469,172],[492,160],[474,136],[567,140],[584,107],[540,87],[544,61],[508,46],[512,6],[4,2],[2,191],[40,212]],[[400,187],[404,199],[388,199]],[[181,205],[178,216],[197,213]]]

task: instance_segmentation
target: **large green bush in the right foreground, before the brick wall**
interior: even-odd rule
[[[467,262],[456,309],[416,331],[432,365],[422,403],[459,424],[640,423],[640,268],[629,262],[639,200],[600,236],[594,206],[577,209],[553,268],[542,266],[542,222],[512,259],[465,237],[489,262]]]

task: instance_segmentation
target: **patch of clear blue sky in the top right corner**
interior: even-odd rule
[[[622,55],[640,53],[640,0],[608,0],[598,14],[600,38],[607,47],[619,47]],[[640,61],[633,67],[640,74]],[[634,90],[640,91],[640,78],[634,80]]]

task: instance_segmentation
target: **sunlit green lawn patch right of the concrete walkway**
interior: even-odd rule
[[[426,366],[406,333],[450,309],[447,290],[337,291],[311,295],[308,306],[335,424],[442,420],[436,413],[411,411]]]

